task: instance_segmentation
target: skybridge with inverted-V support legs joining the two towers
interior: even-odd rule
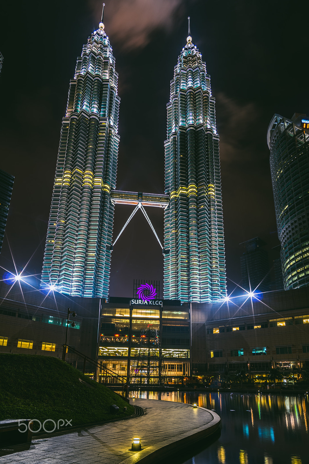
[[[117,238],[111,245],[111,251],[113,250],[113,246],[117,242],[118,238],[125,230],[125,227],[129,224],[135,213],[140,209],[144,214],[148,224],[151,227],[152,232],[155,234],[155,237],[158,240],[159,245],[162,248],[163,254],[167,254],[169,250],[165,250],[163,245],[158,238],[157,232],[155,231],[154,227],[151,224],[151,220],[148,217],[148,214],[145,211],[145,206],[155,206],[157,208],[167,208],[170,204],[170,195],[164,194],[156,194],[156,193],[143,193],[143,192],[125,192],[120,190],[111,190],[110,199],[113,205],[117,203],[121,205],[135,205],[134,210],[132,211],[129,219],[126,221],[125,225],[121,229],[120,233],[118,234]]]

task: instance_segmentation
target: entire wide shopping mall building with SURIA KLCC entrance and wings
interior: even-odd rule
[[[70,307],[77,316],[75,326],[69,325],[67,344],[99,361],[97,374],[106,383],[117,383],[118,376],[126,378],[129,367],[131,384],[139,383],[144,371],[142,382],[155,384],[156,363],[165,381],[174,385],[192,375],[240,370],[259,374],[276,368],[299,377],[302,369],[309,368],[306,288],[213,304],[176,300],[149,304],[116,297],[106,303],[99,298],[46,294],[23,283],[9,290],[2,282],[0,352],[61,358]],[[69,351],[67,361],[83,370],[79,354]],[[109,374],[104,376],[106,368]],[[85,372],[93,373],[93,366],[87,363]]]

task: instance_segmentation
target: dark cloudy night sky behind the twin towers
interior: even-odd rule
[[[15,182],[0,265],[13,271],[13,255],[18,270],[29,261],[25,273],[39,278],[69,81],[102,4],[1,8],[0,168]],[[119,190],[164,193],[166,103],[191,17],[216,98],[230,291],[241,280],[241,242],[259,236],[270,264],[279,257],[266,133],[274,113],[309,115],[308,13],[308,2],[288,0],[105,0],[121,98]],[[132,209],[116,206],[114,237]],[[163,210],[147,213],[162,241]],[[162,297],[163,256],[141,212],[112,252],[110,294],[131,296],[133,278],[160,280]]]

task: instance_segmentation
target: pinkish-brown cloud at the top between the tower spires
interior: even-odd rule
[[[100,17],[102,3],[90,0],[95,18]],[[143,48],[154,29],[171,28],[173,16],[181,5],[182,0],[114,0],[105,4],[106,33],[122,50]]]

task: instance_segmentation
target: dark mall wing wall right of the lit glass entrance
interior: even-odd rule
[[[193,371],[309,366],[308,289],[268,292],[252,302],[237,297],[232,302],[192,304]]]

